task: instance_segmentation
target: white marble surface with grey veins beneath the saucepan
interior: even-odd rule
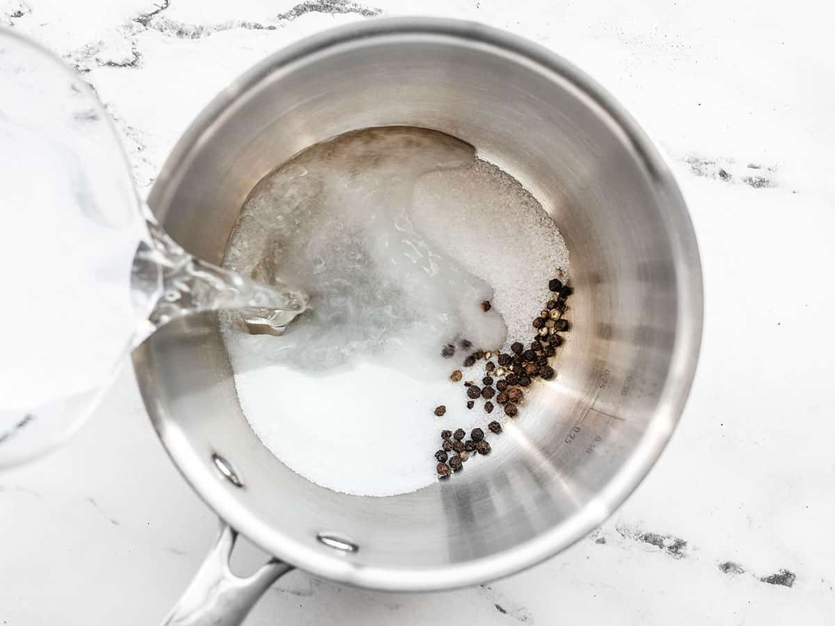
[[[369,2],[0,0],[0,24],[85,73],[147,189],[190,119],[267,53],[331,25],[417,11]],[[835,623],[832,9],[420,6],[570,58],[671,154],[703,255],[699,371],[650,477],[565,553],[443,594],[371,593],[294,572],[247,624]],[[668,537],[666,548],[651,533]],[[165,457],[126,370],[68,447],[0,476],[0,622],[157,623],[214,535],[215,517]],[[791,585],[762,581],[781,570]]]

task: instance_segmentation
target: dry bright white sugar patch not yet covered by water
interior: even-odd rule
[[[451,367],[435,368],[434,381],[376,358],[319,376],[259,359],[249,369],[247,344],[269,339],[247,336],[234,351],[240,405],[281,462],[323,487],[360,496],[416,491],[436,480],[442,428],[484,427],[481,401],[467,409],[463,386],[445,376]],[[433,414],[439,404],[443,417]]]

